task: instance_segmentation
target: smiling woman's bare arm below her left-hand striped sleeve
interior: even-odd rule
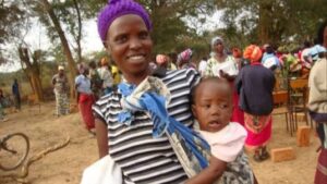
[[[99,157],[102,158],[108,155],[108,130],[106,123],[100,119],[95,119],[96,136],[98,143]]]

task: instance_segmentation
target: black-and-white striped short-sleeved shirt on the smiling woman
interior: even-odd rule
[[[193,125],[189,95],[199,79],[195,70],[170,71],[161,78],[171,93],[168,112],[187,126]],[[126,184],[183,183],[187,176],[167,138],[153,138],[153,122],[136,112],[130,126],[118,122],[121,94],[104,96],[93,107],[108,127],[109,155],[121,167]]]

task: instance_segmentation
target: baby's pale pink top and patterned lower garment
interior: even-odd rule
[[[249,158],[244,152],[246,138],[245,128],[235,122],[230,122],[219,132],[199,131],[201,135],[210,145],[211,157],[226,161],[227,169],[218,184],[253,184],[253,172]]]

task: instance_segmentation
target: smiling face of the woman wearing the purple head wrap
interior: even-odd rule
[[[153,41],[138,15],[116,19],[108,29],[106,47],[124,75],[147,74]]]

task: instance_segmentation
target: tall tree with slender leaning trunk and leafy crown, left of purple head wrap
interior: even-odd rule
[[[33,3],[33,9],[40,22],[47,27],[50,39],[56,42],[59,36],[60,44],[55,46],[61,46],[65,56],[72,98],[74,98],[75,94],[74,78],[76,75],[76,62],[82,62],[83,58],[81,46],[83,22],[88,17],[95,16],[95,9],[98,8],[95,4],[99,3],[104,3],[104,1],[53,0],[50,3],[48,0],[38,0]],[[69,42],[68,37],[72,37],[74,41]]]

